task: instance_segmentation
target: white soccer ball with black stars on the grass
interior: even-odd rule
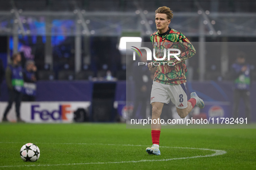
[[[19,154],[23,161],[35,162],[40,157],[40,150],[35,144],[27,143],[20,148]]]

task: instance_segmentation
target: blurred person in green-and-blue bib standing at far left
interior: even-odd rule
[[[17,122],[23,122],[20,119],[19,108],[22,99],[23,91],[23,72],[20,66],[21,55],[19,53],[13,54],[12,63],[6,68],[6,84],[9,93],[8,105],[3,113],[3,121],[7,121],[7,114],[12,107],[13,101],[15,101]]]

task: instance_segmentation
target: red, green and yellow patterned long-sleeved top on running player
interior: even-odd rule
[[[190,41],[188,41],[185,35],[183,35],[181,32],[178,32],[172,28],[169,28],[169,30],[163,34],[159,34],[159,32],[156,31],[150,36],[150,40],[153,43],[153,47],[156,49],[156,58],[164,57],[164,52],[166,53],[165,56],[168,57],[169,48],[181,50],[181,54],[177,56],[180,61],[174,56],[170,56],[170,60],[166,61],[156,59],[153,60],[154,66],[157,66],[154,81],[167,85],[179,85],[185,83],[185,73],[187,72],[185,60],[192,57],[196,53]],[[171,66],[173,64],[174,66]]]

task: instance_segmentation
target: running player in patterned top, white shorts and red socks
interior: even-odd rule
[[[178,115],[181,118],[185,118],[195,105],[200,108],[204,108],[204,101],[199,98],[195,92],[191,93],[191,98],[187,101],[185,87],[185,73],[187,72],[187,68],[185,60],[195,54],[195,49],[181,32],[169,27],[173,17],[170,8],[166,6],[159,7],[156,9],[155,14],[157,31],[150,36],[150,39],[156,51],[159,51],[158,49],[162,49],[165,44],[167,45],[165,48],[169,48],[168,44],[175,44],[175,42],[176,44],[181,44],[183,50],[178,56],[180,60],[171,56],[170,60],[163,60],[159,66],[156,66],[150,101],[152,104],[152,122],[154,119],[160,120],[163,105],[169,104],[170,100],[175,104]],[[156,57],[163,58],[161,55]],[[156,62],[156,60],[149,63],[149,70],[153,69],[154,62]],[[172,62],[172,65],[175,63],[174,66],[169,66],[169,62]],[[151,136],[153,145],[152,147],[146,148],[146,152],[148,154],[160,155],[160,132],[161,124],[152,123]]]

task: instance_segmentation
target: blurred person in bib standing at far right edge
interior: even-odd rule
[[[251,106],[250,106],[250,65],[245,62],[245,54],[240,53],[237,56],[237,61],[232,65],[232,77],[235,83],[233,94],[233,118],[236,120],[239,116],[238,108],[240,106],[240,99],[243,98],[245,104],[245,113],[247,123],[251,121]]]

